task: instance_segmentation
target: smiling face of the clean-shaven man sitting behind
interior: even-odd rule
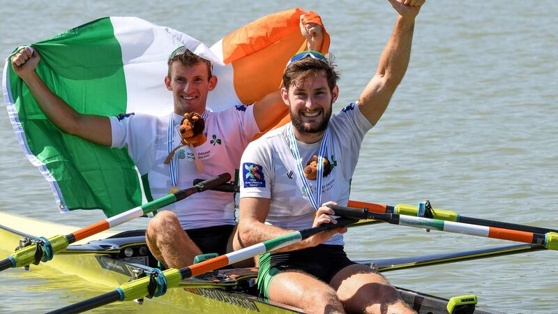
[[[183,66],[174,61],[170,65],[170,77],[165,77],[165,86],[172,91],[174,113],[183,115],[189,112],[203,114],[207,94],[217,85],[215,75],[209,77],[205,63]]]

